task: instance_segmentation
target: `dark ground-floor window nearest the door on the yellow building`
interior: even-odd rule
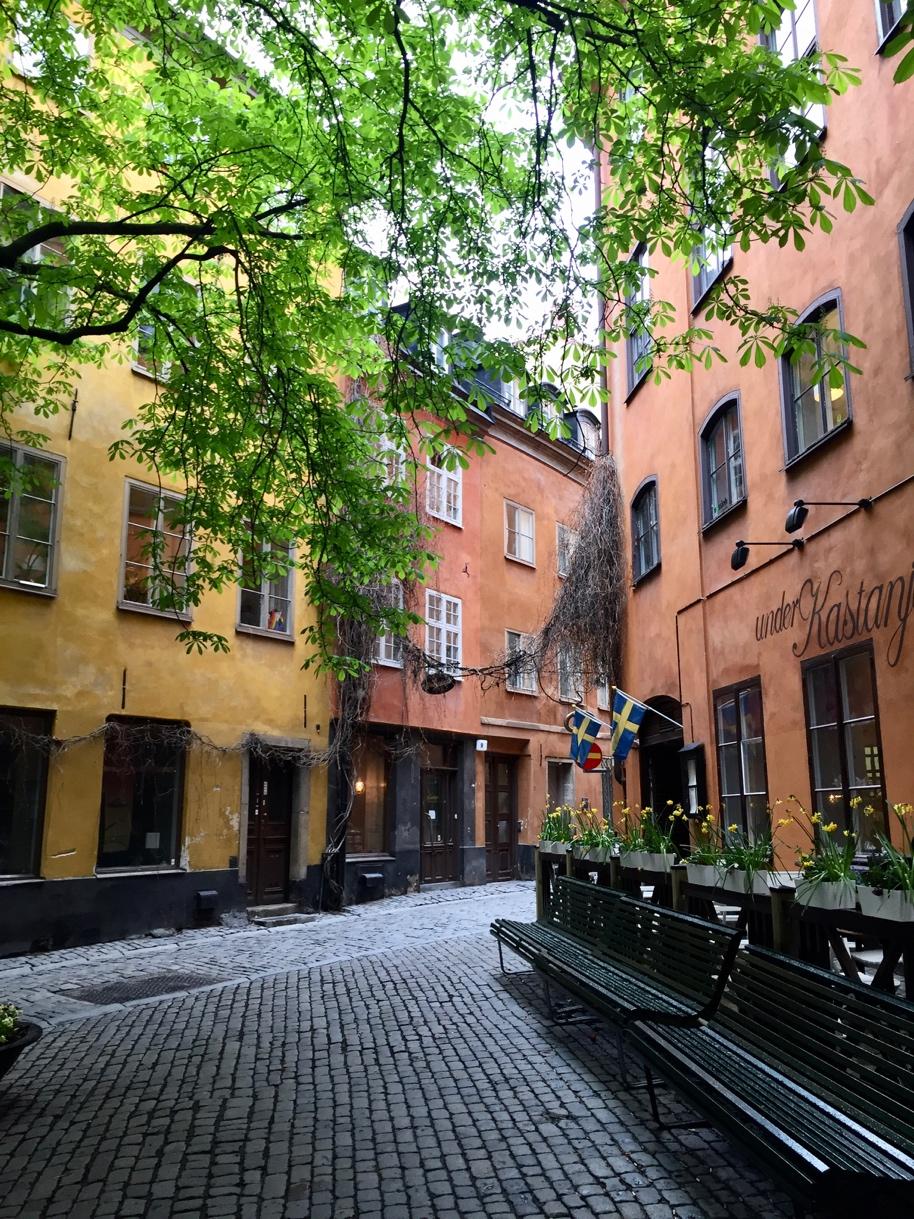
[[[100,868],[178,864],[186,725],[110,720],[101,779]]]

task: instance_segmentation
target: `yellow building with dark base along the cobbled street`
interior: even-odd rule
[[[193,558],[193,539],[168,536],[178,483],[108,458],[156,389],[123,355],[84,368],[68,412],[13,414],[41,449],[0,436],[29,474],[0,496],[0,953],[317,892],[329,708],[301,668],[308,606],[296,573],[239,563],[193,613],[230,651],[175,641],[185,622],[149,603],[147,544]]]

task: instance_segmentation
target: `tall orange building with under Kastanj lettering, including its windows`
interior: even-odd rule
[[[749,833],[796,796],[863,846],[888,824],[886,802],[914,800],[914,83],[895,85],[897,61],[879,54],[892,13],[799,0],[778,43],[803,54],[814,38],[862,67],[823,139],[875,206],[836,201],[834,232],[813,230],[802,252],[757,245],[719,268],[747,278],[753,305],[863,339],[862,375],[838,386],[802,363],[741,368],[736,334],[702,318],[709,277],[659,251],[651,295],[708,325],[726,362],[658,385],[637,379],[628,344],[609,372],[632,564],[622,685],[684,725],[646,717],[617,795],[710,802]],[[788,533],[797,500],[808,514]],[[788,865],[802,844],[780,833]]]

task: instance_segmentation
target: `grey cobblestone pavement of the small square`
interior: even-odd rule
[[[612,1041],[498,973],[496,914],[533,917],[531,886],[0,963],[56,1022],[0,1084],[0,1219],[788,1215],[718,1132],[659,1136]],[[67,998],[165,973],[222,980]]]

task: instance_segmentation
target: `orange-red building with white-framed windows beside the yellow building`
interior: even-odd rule
[[[466,469],[417,475],[440,563],[406,603],[425,619],[416,644],[442,669],[497,663],[536,633],[563,578],[591,468],[596,418],[569,416],[570,436],[552,440],[526,427],[523,406],[503,390],[487,412],[472,412],[491,452]],[[428,694],[406,677],[395,639],[379,641],[353,758],[347,901],[531,876],[547,801],[586,797],[601,806],[601,777],[569,761],[572,663],[561,674],[519,668],[507,684],[467,675],[445,694]],[[586,691],[589,706],[604,698],[606,691]],[[339,798],[331,775],[331,808]]]

